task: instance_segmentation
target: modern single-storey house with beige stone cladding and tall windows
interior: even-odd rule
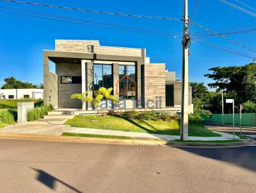
[[[164,63],[150,63],[146,49],[101,46],[97,40],[55,40],[55,50],[44,50],[44,103],[54,107],[82,109],[81,102],[70,96],[84,91],[93,96],[104,86],[112,87],[118,99],[118,104],[108,105],[110,109],[177,112],[181,85]],[[188,106],[192,112],[191,97]],[[90,111],[93,105],[84,104],[83,109]]]

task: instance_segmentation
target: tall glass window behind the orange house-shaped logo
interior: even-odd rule
[[[119,65],[119,98],[136,99],[136,68]]]

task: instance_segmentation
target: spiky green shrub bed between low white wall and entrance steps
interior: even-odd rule
[[[29,109],[27,111],[27,120],[28,121],[35,121],[39,120],[40,118],[44,118],[48,112],[52,111],[52,105],[44,105],[41,107],[35,107],[33,109]]]

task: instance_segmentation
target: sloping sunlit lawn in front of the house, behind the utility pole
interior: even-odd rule
[[[72,127],[84,127],[84,128],[100,128],[109,130],[122,130],[127,132],[143,132],[151,134],[164,134],[164,135],[179,135],[180,124],[179,121],[153,121],[153,120],[132,120],[122,119],[116,116],[102,117],[97,116],[97,121],[93,121],[93,116],[75,116],[71,120],[67,120],[66,125]],[[208,128],[200,124],[189,125],[190,136],[200,137],[219,137],[219,134],[215,134]]]

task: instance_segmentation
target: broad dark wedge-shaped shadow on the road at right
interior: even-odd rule
[[[239,148],[179,148],[207,158],[221,160],[256,171],[256,147],[244,146]]]

